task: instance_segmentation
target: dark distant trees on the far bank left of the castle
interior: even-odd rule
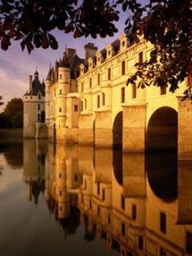
[[[21,98],[12,98],[0,114],[0,128],[22,128],[23,103]]]

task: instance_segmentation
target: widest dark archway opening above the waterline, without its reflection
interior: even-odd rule
[[[148,122],[146,150],[177,150],[178,112],[170,106],[155,110]]]

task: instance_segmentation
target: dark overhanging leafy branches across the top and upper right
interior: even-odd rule
[[[7,50],[13,40],[20,40],[22,50],[34,47],[57,49],[51,30],[74,33],[74,38],[91,35],[113,36],[118,30],[119,7],[128,10],[125,32],[130,42],[142,35],[154,45],[150,60],[138,63],[138,71],[128,79],[142,88],[170,85],[178,88],[192,70],[191,0],[2,0],[0,40]],[[191,87],[186,90],[191,96]]]

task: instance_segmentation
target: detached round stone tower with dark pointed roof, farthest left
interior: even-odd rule
[[[37,123],[45,122],[45,84],[38,78],[38,70],[34,72],[34,80],[29,76],[29,89],[23,101],[23,137],[35,138]]]

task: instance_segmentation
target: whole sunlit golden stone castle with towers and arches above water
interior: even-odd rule
[[[50,66],[45,94],[44,84],[40,86],[35,74],[32,88],[23,98],[24,137],[129,152],[178,148],[180,160],[190,159],[192,106],[190,101],[181,101],[187,81],[174,94],[166,86],[126,86],[135,63],[150,58],[153,46],[143,39],[130,45],[122,34],[103,50],[93,43],[84,48],[85,59],[68,48],[55,66]],[[44,107],[42,122],[39,114]]]

